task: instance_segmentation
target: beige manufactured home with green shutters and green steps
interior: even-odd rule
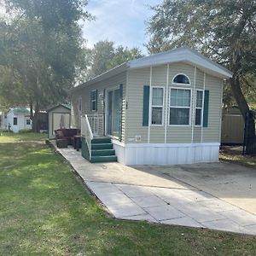
[[[231,77],[198,52],[178,48],[80,84],[71,92],[71,114],[82,154],[124,165],[218,161],[223,81]]]

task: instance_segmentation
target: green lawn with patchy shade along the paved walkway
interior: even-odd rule
[[[256,237],[108,217],[44,136],[0,136],[0,255],[255,255]]]

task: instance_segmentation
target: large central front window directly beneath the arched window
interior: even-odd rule
[[[171,89],[170,125],[189,125],[191,90]]]

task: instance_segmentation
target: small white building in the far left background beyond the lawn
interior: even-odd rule
[[[6,129],[14,132],[19,132],[20,130],[30,130],[32,129],[32,120],[30,119],[30,109],[29,108],[10,108],[9,112],[6,114]]]

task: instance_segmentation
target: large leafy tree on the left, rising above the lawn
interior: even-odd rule
[[[90,18],[84,10],[87,1],[64,2],[5,0],[12,16],[0,23],[0,65],[11,75],[2,79],[0,90],[11,102],[9,89],[16,91],[20,84],[24,93],[19,96],[31,107],[34,131],[40,108],[64,100],[79,71],[83,39],[78,21]]]

